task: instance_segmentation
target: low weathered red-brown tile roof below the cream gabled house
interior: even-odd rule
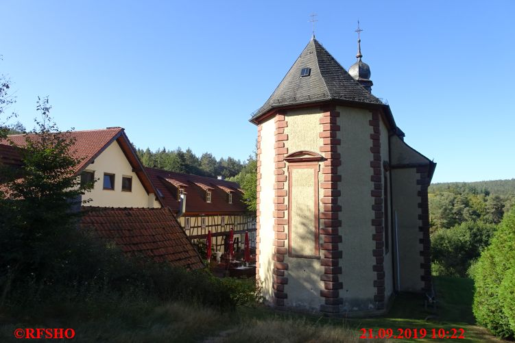
[[[115,242],[124,253],[143,253],[156,262],[188,269],[204,264],[168,208],[82,207],[81,229]]]

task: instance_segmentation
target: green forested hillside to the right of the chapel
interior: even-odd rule
[[[429,188],[433,274],[464,277],[515,208],[515,179]]]

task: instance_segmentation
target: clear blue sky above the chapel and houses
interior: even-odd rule
[[[361,22],[372,92],[433,182],[515,177],[514,1],[5,1],[0,73],[32,129],[125,128],[136,147],[241,160],[248,122],[316,36],[345,67]]]

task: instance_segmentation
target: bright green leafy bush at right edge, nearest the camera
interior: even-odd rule
[[[492,244],[472,271],[476,292],[472,311],[477,322],[501,338],[514,338],[515,210],[505,215]]]

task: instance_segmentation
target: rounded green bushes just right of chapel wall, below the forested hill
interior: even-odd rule
[[[470,264],[490,244],[495,231],[496,225],[470,221],[433,233],[431,260],[435,275],[466,277]]]

